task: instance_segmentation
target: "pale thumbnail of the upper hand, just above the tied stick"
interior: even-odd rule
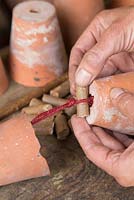
[[[76,73],[75,81],[77,85],[86,86],[90,84],[92,78],[93,78],[92,74],[90,74],[84,69],[80,69]]]

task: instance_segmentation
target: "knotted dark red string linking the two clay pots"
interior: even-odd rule
[[[80,99],[80,100],[77,100],[77,99],[74,99],[74,98],[70,98],[70,99],[68,99],[67,103],[65,103],[65,104],[63,104],[61,106],[57,106],[55,108],[52,108],[52,109],[50,109],[50,110],[48,110],[46,112],[43,112],[43,113],[37,115],[37,117],[35,117],[31,121],[31,123],[32,123],[32,125],[34,125],[34,124],[36,124],[36,123],[38,123],[38,122],[46,119],[47,117],[51,117],[54,114],[56,114],[57,112],[64,110],[65,108],[70,108],[70,107],[72,107],[74,105],[77,105],[79,103],[85,103],[85,102],[87,102],[89,104],[89,106],[91,107],[92,104],[93,104],[93,99],[94,99],[93,96],[90,96],[87,99]]]

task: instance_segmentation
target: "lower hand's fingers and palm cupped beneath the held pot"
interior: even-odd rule
[[[72,117],[72,126],[87,158],[124,186],[134,186],[134,142],[126,135],[108,134],[90,127],[86,120]]]

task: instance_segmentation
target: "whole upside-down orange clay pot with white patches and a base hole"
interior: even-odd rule
[[[11,75],[16,82],[42,87],[67,70],[67,57],[52,4],[28,1],[13,10]]]

